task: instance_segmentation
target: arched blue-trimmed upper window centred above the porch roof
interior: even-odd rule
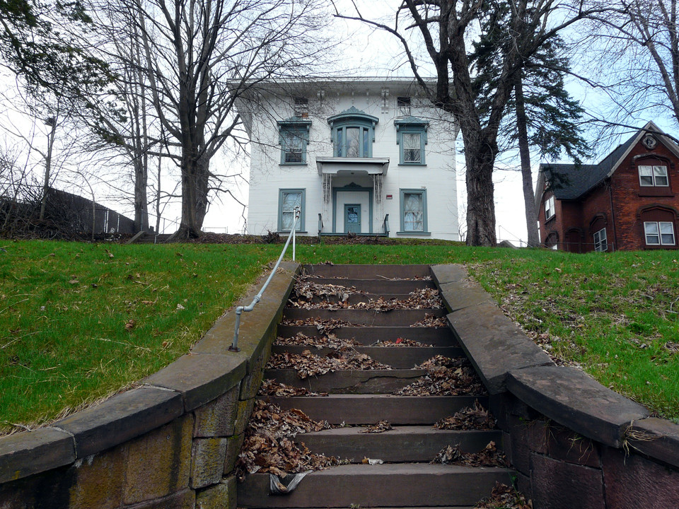
[[[352,106],[327,119],[332,129],[333,155],[346,158],[373,156],[375,126],[379,119]]]

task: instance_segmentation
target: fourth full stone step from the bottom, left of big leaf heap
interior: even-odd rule
[[[426,375],[425,370],[341,370],[299,378],[294,369],[267,369],[265,379],[331,394],[391,394]]]

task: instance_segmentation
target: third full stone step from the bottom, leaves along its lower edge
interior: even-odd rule
[[[374,424],[385,420],[392,426],[431,426],[452,416],[475,399],[487,407],[485,396],[393,396],[391,394],[330,394],[325,397],[264,397],[284,410],[299,409],[315,421],[331,424]]]

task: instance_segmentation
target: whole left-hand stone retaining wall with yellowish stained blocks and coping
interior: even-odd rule
[[[236,457],[296,271],[282,264],[243,314],[240,352],[230,312],[134,390],[0,438],[0,508],[235,509]]]

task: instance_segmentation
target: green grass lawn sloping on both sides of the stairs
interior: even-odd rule
[[[186,353],[280,245],[0,242],[0,433],[106,397]],[[298,260],[467,264],[531,337],[679,418],[679,253],[298,245]],[[21,425],[21,426],[16,426]]]

